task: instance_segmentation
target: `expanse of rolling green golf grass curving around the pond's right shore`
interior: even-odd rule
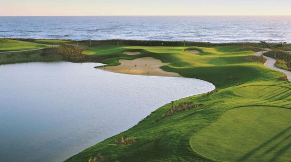
[[[254,52],[238,45],[88,47],[83,55],[104,58],[106,66],[151,57],[170,63],[161,67],[164,71],[211,82],[217,89],[174,101],[176,110],[166,104],[66,161],[291,161],[291,83],[280,79],[283,73],[247,59]],[[114,144],[123,137],[134,142]]]

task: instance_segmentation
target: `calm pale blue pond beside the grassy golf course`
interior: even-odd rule
[[[125,131],[211,83],[106,72],[85,63],[0,66],[0,161],[53,162]]]

